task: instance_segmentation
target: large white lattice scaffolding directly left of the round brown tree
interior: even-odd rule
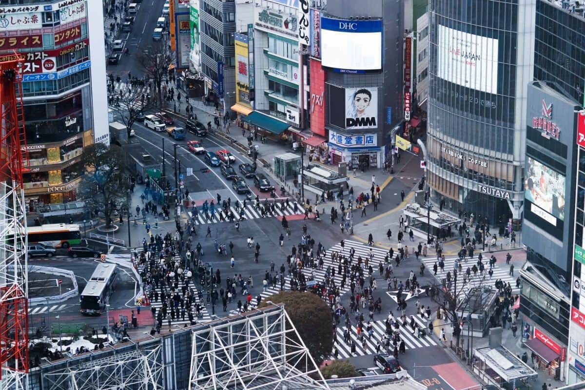
[[[329,389],[329,386],[284,306],[274,305],[195,329],[189,389]]]

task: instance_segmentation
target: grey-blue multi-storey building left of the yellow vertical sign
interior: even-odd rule
[[[190,70],[204,78],[205,96],[229,108],[235,97],[236,4],[234,0],[191,0]],[[197,20],[197,22],[195,22]],[[197,26],[197,27],[195,27]]]

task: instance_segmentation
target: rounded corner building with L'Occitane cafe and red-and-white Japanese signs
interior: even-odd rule
[[[101,2],[87,0],[0,6],[0,56],[16,50],[25,58],[30,208],[74,200],[84,148],[109,144],[102,12]]]

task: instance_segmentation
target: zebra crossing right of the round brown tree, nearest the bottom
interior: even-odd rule
[[[348,315],[351,315],[348,313]],[[400,339],[404,340],[404,345],[406,350],[415,349],[415,348],[423,348],[423,347],[432,347],[438,345],[438,341],[435,341],[428,330],[428,319],[423,317],[422,315],[415,315],[413,316],[415,322],[418,324],[420,329],[424,329],[426,334],[425,336],[417,337],[415,334],[412,333],[412,329],[409,325],[406,327],[400,326]],[[410,317],[408,317],[410,319]],[[367,326],[367,322],[364,322]],[[345,326],[338,326],[336,328],[336,339],[335,343],[333,343],[333,354],[331,358],[335,358],[335,349],[338,351],[338,358],[350,358],[355,356],[364,356],[364,355],[371,355],[376,353],[376,346],[378,343],[381,342],[382,337],[386,334],[386,323],[385,320],[377,320],[371,321],[370,324],[372,325],[373,335],[368,337],[367,332],[365,329],[363,330],[364,339],[366,340],[366,348],[363,348],[362,341],[360,341],[357,337],[356,333],[356,326],[352,325],[351,329],[351,339],[355,342],[356,345],[356,352],[352,353],[351,343],[346,343],[343,340],[343,331],[345,330]],[[391,334],[388,335],[391,338]],[[393,344],[390,342],[390,353],[394,350]],[[381,351],[386,351],[386,348],[383,346]]]

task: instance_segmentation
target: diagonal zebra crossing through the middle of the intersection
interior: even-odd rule
[[[355,254],[353,256],[354,261],[357,261],[357,257],[361,256],[362,258],[368,258],[369,259],[369,254],[370,254],[370,249],[372,251],[373,254],[373,259],[371,260],[370,265],[374,268],[374,275],[379,275],[376,274],[377,272],[377,266],[378,263],[380,262],[384,262],[384,257],[386,256],[386,250],[384,249],[379,249],[379,248],[374,248],[374,247],[370,247],[367,245],[364,245],[363,243],[360,243],[359,241],[352,241],[352,240],[344,240],[343,241],[343,247],[341,246],[341,243],[335,244],[334,246],[332,246],[331,248],[329,248],[328,250],[326,250],[326,256],[324,256],[323,258],[323,268],[322,269],[318,269],[318,268],[309,268],[309,267],[304,267],[302,269],[301,272],[303,272],[305,274],[305,277],[307,278],[307,281],[309,281],[309,279],[312,278],[312,280],[315,280],[317,282],[324,282],[325,281],[325,274],[327,272],[327,268],[331,265],[333,268],[335,268],[335,285],[338,287],[341,287],[341,281],[343,279],[342,275],[338,272],[338,267],[339,267],[339,263],[337,261],[333,262],[331,260],[331,254],[333,252],[339,252],[340,254],[344,254],[345,256],[349,256],[349,251],[350,249],[355,249]],[[279,265],[276,264],[276,268],[278,268]],[[287,277],[284,278],[284,289],[290,289],[290,279],[291,276],[288,275]],[[349,291],[350,289],[350,280],[349,278],[346,279],[346,284],[343,287],[343,289],[340,288],[340,295],[345,294],[345,292]],[[278,292],[280,292],[280,282],[277,283],[276,287],[273,287],[271,284],[269,284],[269,288],[266,289],[266,291],[263,291],[260,293],[260,296],[262,299],[267,298],[270,295],[273,294],[278,294]],[[252,300],[252,307],[256,307],[256,299]]]

